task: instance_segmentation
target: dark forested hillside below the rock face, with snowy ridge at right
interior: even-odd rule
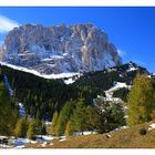
[[[1,72],[0,79],[3,80],[4,75],[8,78],[14,99],[23,103],[27,114],[49,121],[53,112],[60,112],[66,101],[84,97],[86,104],[92,105],[93,99],[97,95],[105,96],[104,91],[113,87],[116,82],[132,85],[137,73],[151,75],[146,69],[133,62],[104,71],[89,72],[68,85],[64,83],[68,78],[45,79],[4,65],[1,65]],[[127,89],[121,87],[113,96],[126,101],[127,93]]]

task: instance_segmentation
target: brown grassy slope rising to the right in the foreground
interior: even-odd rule
[[[43,148],[155,148],[155,130],[149,130],[152,123],[140,124],[107,134],[71,136],[66,141],[53,140],[45,146],[40,144],[27,145],[27,147]],[[146,135],[141,135],[141,128],[147,130]],[[111,137],[106,137],[106,135]],[[52,146],[50,144],[53,144]]]

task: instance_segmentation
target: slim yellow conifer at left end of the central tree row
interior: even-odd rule
[[[52,135],[56,134],[58,117],[59,117],[59,114],[55,111],[54,114],[53,114],[53,117],[52,117],[52,125],[51,125],[51,128],[50,128],[50,134],[52,134]]]

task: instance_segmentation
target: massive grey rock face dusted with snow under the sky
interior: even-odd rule
[[[2,61],[40,73],[89,72],[122,63],[107,35],[93,24],[25,24],[8,33]]]

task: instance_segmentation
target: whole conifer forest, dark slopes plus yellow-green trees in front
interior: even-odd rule
[[[121,65],[111,71],[90,72],[66,85],[63,80],[45,80],[1,66],[0,134],[28,138],[40,134],[68,137],[84,131],[107,133],[126,124],[148,122],[155,110],[155,80],[147,73],[144,68],[126,73],[126,65]],[[123,102],[114,104],[103,99],[104,91],[116,81],[134,86],[115,91],[114,97]],[[24,116],[19,113],[19,103],[25,108]],[[124,104],[128,106],[127,112]],[[45,121],[52,125],[45,126]]]

